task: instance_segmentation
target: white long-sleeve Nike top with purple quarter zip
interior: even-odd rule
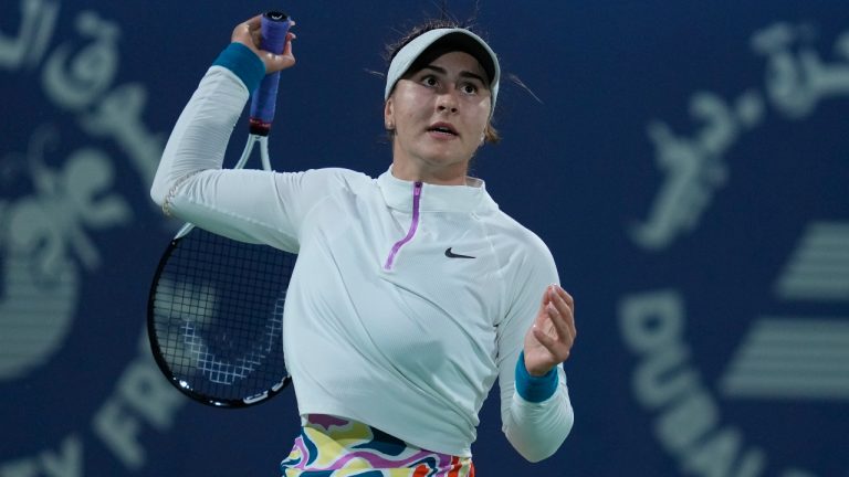
[[[512,445],[528,460],[552,455],[573,424],[563,368],[541,402],[516,392],[516,375],[526,380],[517,368],[525,332],[558,282],[545,244],[478,179],[436,186],[391,170],[377,179],[344,169],[222,170],[250,91],[239,70],[207,72],[151,197],[184,221],[298,254],[283,325],[298,413],[360,421],[468,457],[497,378]]]

